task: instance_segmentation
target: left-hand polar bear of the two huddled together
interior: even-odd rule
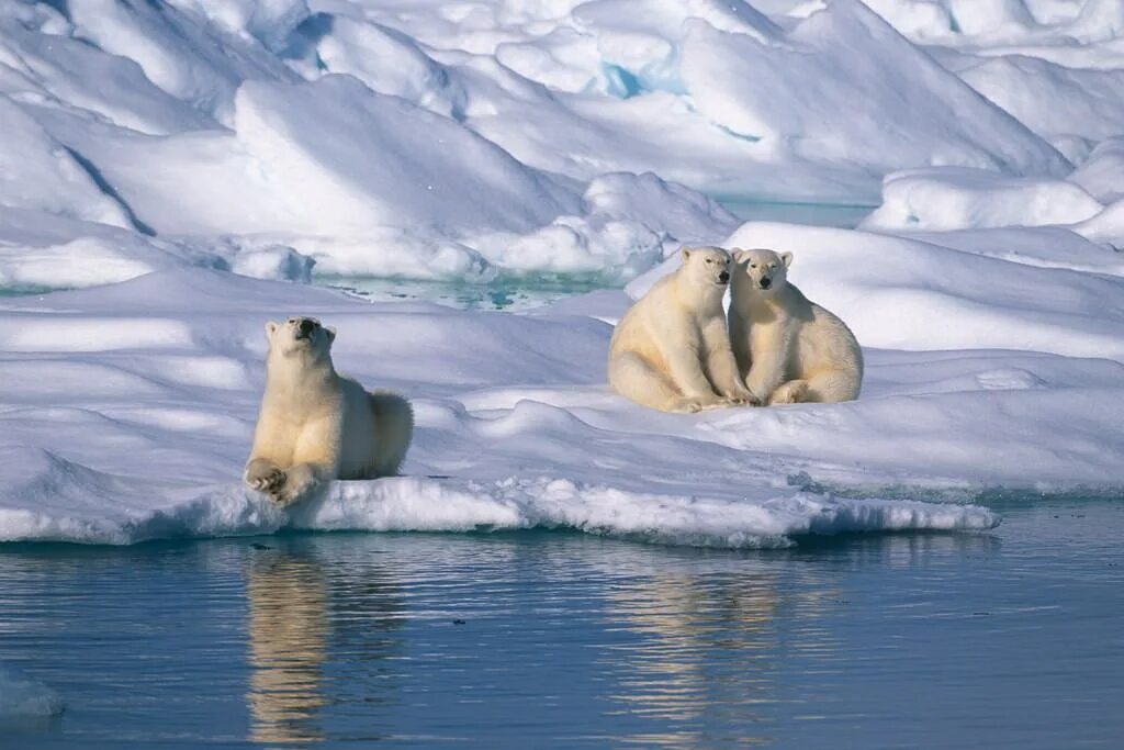
[[[613,332],[609,385],[663,412],[750,404],[722,309],[729,253],[685,247],[681,257],[682,265],[637,300]]]

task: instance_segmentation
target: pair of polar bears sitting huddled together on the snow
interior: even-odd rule
[[[858,398],[859,342],[788,282],[792,253],[687,247],[681,256],[617,324],[614,390],[664,412]]]

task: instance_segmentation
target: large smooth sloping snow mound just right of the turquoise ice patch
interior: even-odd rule
[[[697,21],[689,28],[682,74],[699,110],[778,155],[882,172],[904,164],[1067,171],[1058,152],[855,0],[835,0],[771,43]],[[785,106],[794,91],[800,105]]]

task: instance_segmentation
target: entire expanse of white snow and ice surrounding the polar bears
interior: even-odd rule
[[[571,528],[783,546],[1124,487],[1115,0],[0,0],[0,540]],[[727,206],[877,206],[859,229]],[[613,323],[769,246],[842,405],[643,410]],[[602,289],[518,314],[379,277]],[[266,319],[406,394],[406,477],[239,482]],[[2,683],[2,677],[0,677]],[[0,692],[2,695],[2,692]]]

